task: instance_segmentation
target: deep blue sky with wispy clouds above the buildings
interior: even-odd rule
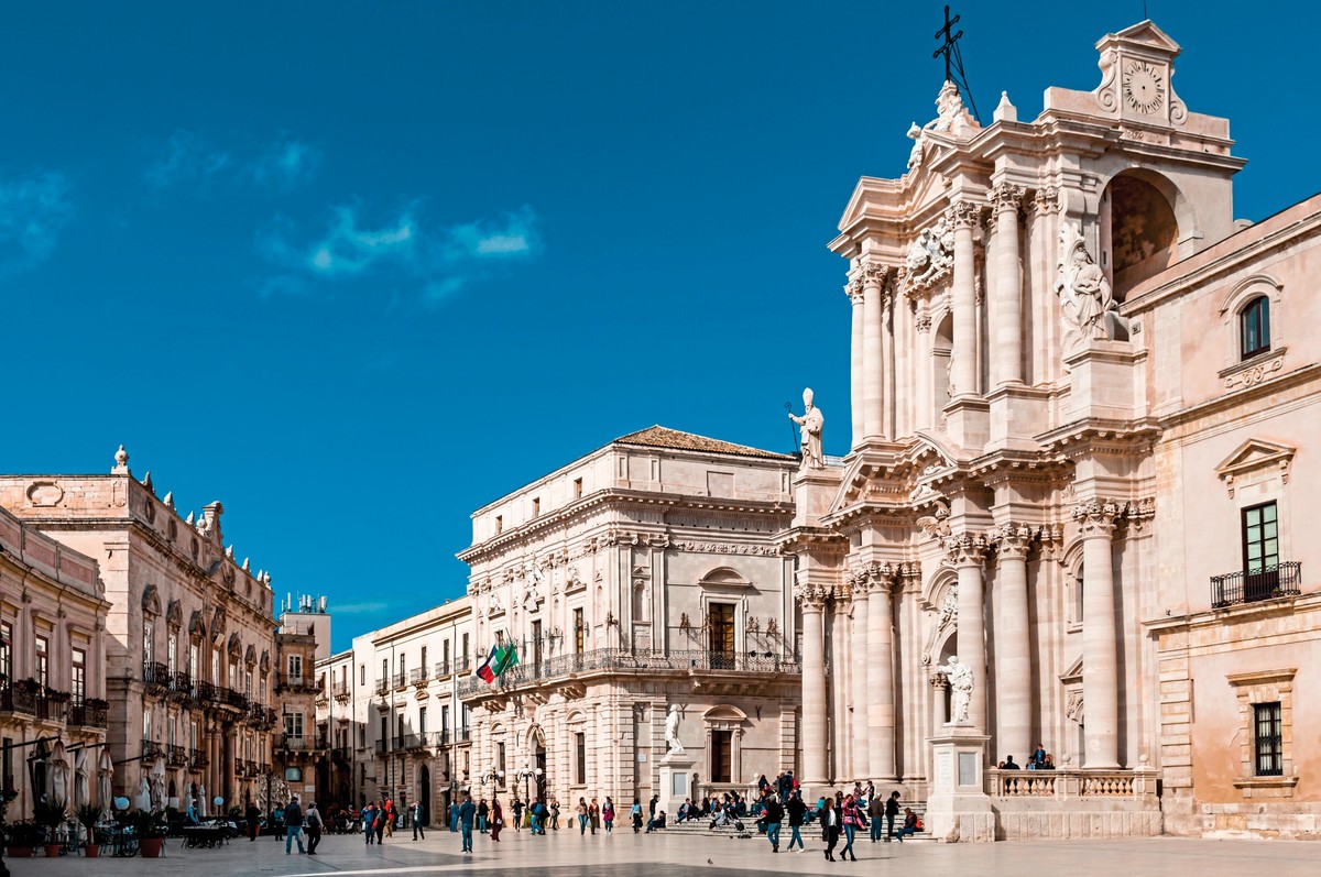
[[[962,7],[983,116],[1008,90],[1024,119],[1143,9]],[[1321,16],[1218,7],[1149,4],[1259,219],[1321,188]],[[941,8],[8,4],[0,465],[124,442],[345,647],[462,593],[472,510],[620,435],[789,450],[811,384],[843,453],[824,244],[934,116]]]

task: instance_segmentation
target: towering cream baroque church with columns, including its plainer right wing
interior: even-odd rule
[[[1235,221],[1151,21],[863,177],[852,444],[795,478],[803,779],[964,840],[1321,833],[1321,198]],[[831,407],[828,400],[823,400]],[[1310,572],[1309,572],[1310,571]],[[997,771],[1044,744],[1053,771]]]

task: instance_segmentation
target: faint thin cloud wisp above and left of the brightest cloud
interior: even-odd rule
[[[291,192],[309,182],[321,165],[317,149],[288,137],[266,147],[222,148],[192,131],[178,129],[162,152],[147,166],[147,181],[156,189],[225,182]]]

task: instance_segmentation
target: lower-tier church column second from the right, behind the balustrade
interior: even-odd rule
[[[1007,524],[993,534],[996,544],[996,740],[992,757],[1013,755],[1032,745],[1032,651],[1028,633],[1028,548],[1032,530]]]

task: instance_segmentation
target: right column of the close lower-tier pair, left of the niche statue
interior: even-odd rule
[[[867,766],[878,783],[894,774],[894,634],[892,604],[894,568],[872,564],[867,569]]]

